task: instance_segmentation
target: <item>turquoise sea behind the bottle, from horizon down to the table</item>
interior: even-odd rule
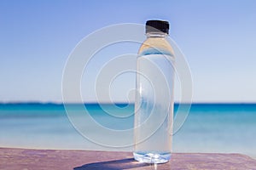
[[[88,104],[85,108],[87,116],[81,105],[66,107],[75,113],[68,116],[81,123],[75,124],[77,129],[83,127],[81,134],[70,122],[64,105],[0,104],[0,147],[132,150],[134,105]],[[90,118],[93,123],[88,122]],[[256,159],[255,144],[255,104],[193,104],[187,120],[173,135],[172,150],[241,153]]]

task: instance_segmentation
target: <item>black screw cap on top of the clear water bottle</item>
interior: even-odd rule
[[[165,20],[148,20],[146,22],[146,33],[164,32],[169,34],[169,22]]]

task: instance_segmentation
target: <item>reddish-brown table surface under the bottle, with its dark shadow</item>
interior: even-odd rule
[[[174,153],[165,164],[134,161],[131,152],[26,150],[0,148],[1,170],[40,169],[239,169],[256,170],[256,160],[241,154]]]

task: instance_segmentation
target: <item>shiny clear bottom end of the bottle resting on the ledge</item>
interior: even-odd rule
[[[166,163],[171,159],[171,153],[154,153],[154,152],[133,152],[136,161],[144,163]]]

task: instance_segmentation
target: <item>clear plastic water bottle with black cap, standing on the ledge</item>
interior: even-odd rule
[[[147,39],[137,57],[134,158],[165,163],[171,158],[174,53],[166,37],[169,23],[148,20]]]

